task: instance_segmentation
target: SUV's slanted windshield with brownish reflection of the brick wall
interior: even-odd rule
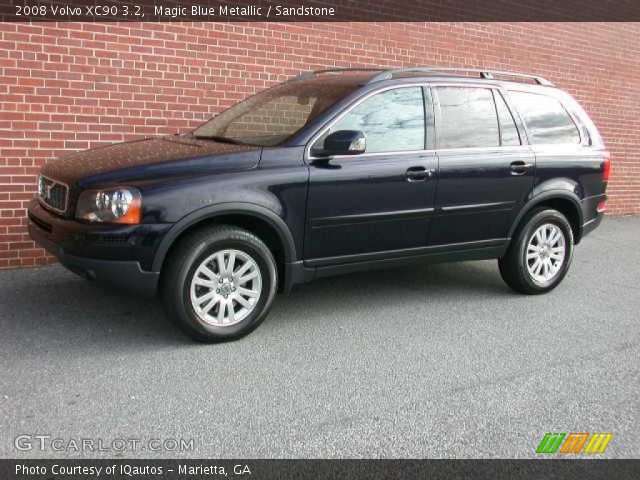
[[[317,79],[283,83],[223,111],[193,131],[197,138],[270,147],[302,129],[358,88]]]

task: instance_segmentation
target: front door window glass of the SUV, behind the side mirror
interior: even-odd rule
[[[313,148],[322,149],[326,135],[338,130],[362,131],[367,153],[422,150],[425,141],[422,89],[395,88],[364,100],[338,120]]]

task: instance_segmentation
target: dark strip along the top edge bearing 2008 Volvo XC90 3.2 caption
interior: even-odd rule
[[[237,0],[3,0],[0,4],[0,20],[4,22],[634,22],[640,21],[640,2],[636,0],[248,0],[246,2]]]

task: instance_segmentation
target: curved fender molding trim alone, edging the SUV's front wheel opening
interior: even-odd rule
[[[175,240],[189,227],[203,221],[222,215],[246,215],[267,222],[278,233],[285,255],[285,262],[292,263],[297,260],[296,247],[289,227],[274,211],[266,207],[245,202],[227,202],[211,205],[190,213],[178,221],[165,235],[158,246],[153,259],[153,271],[159,272],[162,264]]]

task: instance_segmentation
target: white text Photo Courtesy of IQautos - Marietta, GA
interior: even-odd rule
[[[177,470],[177,472],[176,472]],[[109,466],[83,466],[83,465],[58,465],[53,464],[50,469],[43,465],[16,465],[16,475],[83,475],[99,477],[100,475],[119,475],[125,477],[135,477],[138,475],[163,475],[165,473],[177,473],[178,475],[251,475],[248,465],[234,465],[230,472],[220,465],[183,465],[178,464],[178,468],[167,468],[154,465],[129,465],[127,463],[114,464]]]

